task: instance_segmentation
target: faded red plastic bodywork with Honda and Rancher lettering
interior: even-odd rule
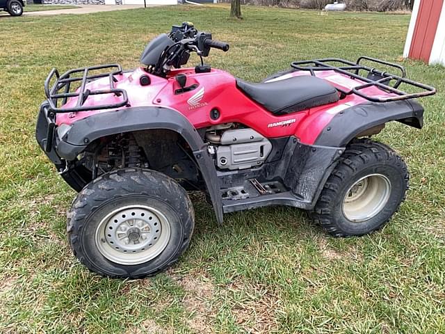
[[[176,74],[186,74],[186,87],[195,85],[195,89],[185,93],[177,93],[180,86],[175,79]],[[141,86],[139,78],[142,75],[149,75],[151,84]],[[291,72],[282,77],[284,79],[296,75],[310,75],[307,72]],[[350,89],[351,87],[363,84],[359,80],[353,80],[332,71],[317,72],[317,77],[325,79],[332,86]],[[339,102],[325,104],[316,108],[289,113],[282,116],[275,116],[264,107],[250,100],[236,87],[236,79],[231,74],[222,70],[211,70],[209,73],[196,74],[193,69],[186,68],[174,70],[167,78],[156,77],[147,74],[142,67],[134,72],[124,72],[116,76],[118,81],[116,88],[127,90],[129,97],[129,107],[138,106],[164,106],[169,109],[179,111],[188,122],[200,129],[211,125],[218,125],[226,122],[239,122],[247,127],[251,127],[266,138],[278,138],[282,136],[296,136],[301,143],[312,145],[318,135],[337,113],[357,104],[368,103],[357,95],[348,95]],[[98,79],[92,81],[91,89],[100,89],[108,86],[108,79]],[[375,88],[366,88],[367,93],[375,96],[388,96],[388,93]],[[200,93],[200,96],[195,95]],[[90,96],[84,105],[94,105],[102,97]],[[110,97],[107,97],[110,98]],[[76,104],[76,98],[68,100],[66,106]],[[126,109],[122,107],[120,110]],[[219,117],[213,119],[211,111],[217,109]],[[80,111],[77,113],[61,113],[57,115],[56,124],[72,124],[88,116],[97,113],[115,112],[114,110],[100,111]]]

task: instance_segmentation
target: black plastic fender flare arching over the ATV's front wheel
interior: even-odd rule
[[[56,152],[72,161],[97,138],[146,129],[168,129],[177,132],[188,143],[209,191],[218,223],[223,222],[223,204],[216,168],[200,134],[187,118],[173,109],[140,106],[97,113],[78,120],[59,138]]]

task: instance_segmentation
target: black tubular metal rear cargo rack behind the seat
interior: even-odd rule
[[[400,72],[400,74],[392,74],[387,71],[378,70],[375,67],[363,65],[362,61],[391,67],[392,69],[396,69],[397,72]],[[333,64],[339,65],[336,66]],[[353,63],[352,61],[346,61],[345,59],[341,58],[294,61],[293,63],[291,63],[291,67],[295,68],[296,70],[309,71],[314,77],[316,77],[317,71],[334,71],[346,75],[351,79],[357,79],[365,82],[365,84],[357,84],[357,86],[351,88],[350,90],[337,88],[337,90],[339,90],[343,97],[345,95],[355,94],[371,102],[391,102],[414,99],[417,97],[425,97],[428,95],[434,95],[436,93],[436,89],[434,87],[407,79],[405,67],[367,56],[359,57],[355,63]],[[363,72],[364,75],[361,74]],[[405,93],[404,91],[398,89],[401,84],[410,86],[410,89],[420,88],[421,91],[418,91],[419,89],[416,89],[417,91],[415,93]],[[364,93],[363,89],[369,88],[371,86],[380,88],[380,90],[383,90],[385,93],[393,93],[398,96],[375,97]]]

